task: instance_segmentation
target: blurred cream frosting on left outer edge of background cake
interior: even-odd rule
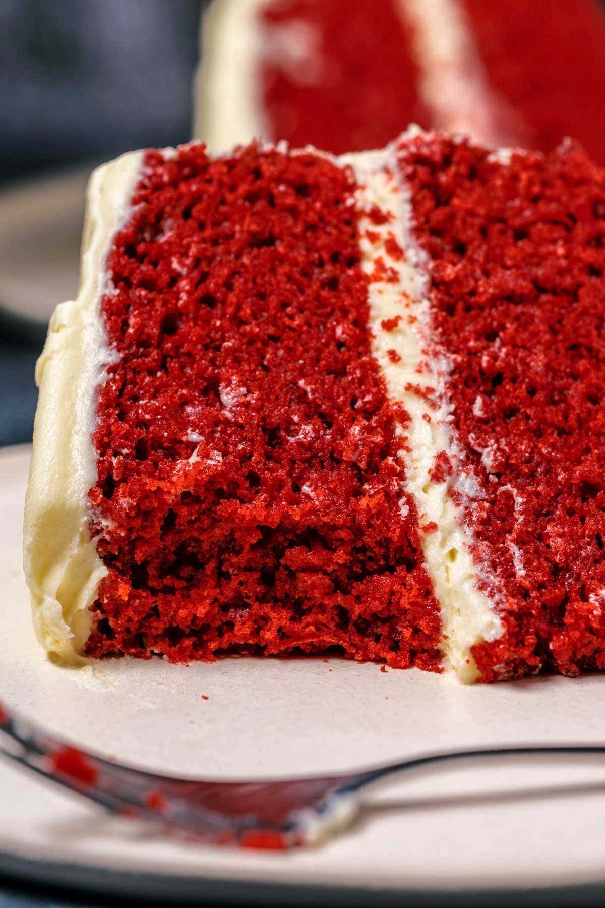
[[[259,97],[258,11],[264,0],[214,0],[202,16],[193,137],[211,153],[269,138]]]

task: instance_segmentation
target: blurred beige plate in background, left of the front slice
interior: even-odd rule
[[[45,322],[78,289],[84,193],[91,167],[0,192],[0,308]]]

